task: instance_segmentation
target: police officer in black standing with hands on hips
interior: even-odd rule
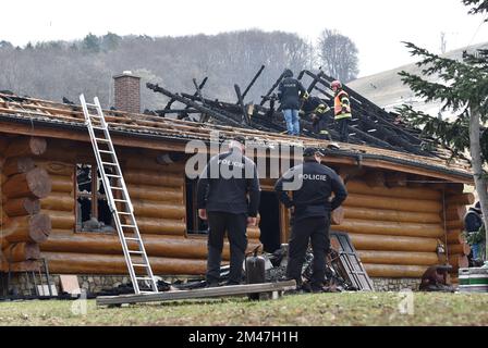
[[[312,291],[322,290],[326,273],[326,254],[329,251],[330,212],[347,197],[347,191],[338,174],[320,164],[325,153],[315,148],[304,150],[304,163],[289,170],[276,184],[279,200],[292,209],[293,226],[289,243],[286,277],[302,285],[302,265],[309,240],[314,252]],[[285,183],[296,183],[288,189]],[[293,191],[293,199],[286,194]],[[331,195],[334,198],[330,200]]]

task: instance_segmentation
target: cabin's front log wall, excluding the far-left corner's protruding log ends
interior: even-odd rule
[[[121,149],[119,152],[155,273],[204,274],[206,237],[186,235],[183,164],[160,165],[155,160],[156,151]],[[74,170],[76,163],[88,160],[93,160],[88,144],[51,139],[46,153],[35,157],[36,166],[46,171],[52,183],[49,195],[40,199],[40,213],[48,215],[52,224],[48,239],[40,244],[41,257],[48,260],[54,274],[126,274],[117,234],[74,232]],[[266,179],[264,184],[271,187],[272,181]],[[464,257],[465,250],[457,250],[457,246],[463,248],[462,241],[454,238],[462,228],[461,217],[451,214],[453,207],[462,208],[465,203],[465,196],[460,192],[446,196],[438,187],[425,185],[371,185],[361,176],[349,181],[347,189],[344,219],[332,228],[350,234],[371,277],[420,277],[429,265],[443,262],[436,250],[447,239],[455,246],[450,247],[453,256],[450,262],[453,264],[452,260],[459,259],[455,252],[461,252],[461,259]],[[451,217],[446,217],[444,212]],[[2,223],[8,219],[3,214]],[[289,226],[284,225],[288,217],[283,215],[282,222],[288,233]],[[252,228],[248,235],[251,249],[258,244],[259,231]],[[283,236],[282,243],[285,241]],[[228,245],[224,259],[229,259]]]

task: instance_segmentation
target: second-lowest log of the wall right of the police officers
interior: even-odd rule
[[[364,263],[432,265],[439,263],[436,252],[359,250]]]

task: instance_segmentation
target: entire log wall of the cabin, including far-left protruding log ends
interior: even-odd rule
[[[94,160],[89,145],[61,151],[65,142],[53,140],[42,152],[39,141],[34,141],[33,151],[32,141],[21,140],[11,147],[14,158],[5,154],[9,145],[2,150],[0,141],[0,163],[8,163],[2,172],[1,224],[9,236],[1,239],[2,249],[11,249],[19,268],[39,257],[37,246],[52,273],[126,274],[117,234],[74,233],[75,165]],[[206,237],[186,235],[183,164],[159,164],[156,151],[118,152],[155,272],[205,273]],[[270,188],[273,181],[263,184]],[[462,220],[472,197],[463,194],[462,186],[450,190],[410,186],[405,175],[391,173],[357,176],[346,186],[350,196],[334,213],[332,229],[350,234],[369,276],[420,277],[432,264],[449,261],[455,272],[465,264],[468,248]],[[247,233],[252,249],[259,244],[259,228],[249,227]],[[447,244],[447,259],[438,257],[439,244]],[[228,245],[223,259],[229,260]]]

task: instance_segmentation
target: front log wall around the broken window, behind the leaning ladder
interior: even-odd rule
[[[94,161],[91,149],[65,154],[53,145],[36,161],[52,182],[40,211],[52,220],[52,232],[40,245],[52,273],[126,274],[117,234],[75,233],[75,165]],[[184,165],[159,164],[158,152],[117,149],[137,224],[154,271],[158,274],[204,274],[207,238],[186,235]],[[62,161],[59,161],[62,159]],[[249,227],[249,250],[259,244],[259,228]],[[135,248],[135,246],[133,246]],[[83,254],[83,257],[82,257]],[[229,244],[223,251],[229,261]]]

